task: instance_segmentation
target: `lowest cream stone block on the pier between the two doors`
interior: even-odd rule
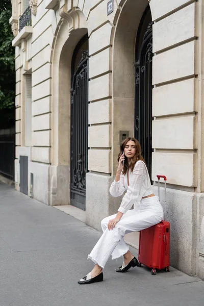
[[[91,171],[110,173],[110,154],[109,149],[90,149],[88,150],[88,169]]]

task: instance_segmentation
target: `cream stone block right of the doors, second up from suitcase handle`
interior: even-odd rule
[[[152,148],[195,149],[195,116],[152,121]]]

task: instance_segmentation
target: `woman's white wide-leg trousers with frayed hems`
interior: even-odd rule
[[[116,259],[123,256],[129,250],[129,247],[124,242],[123,237],[125,234],[139,232],[161,222],[163,219],[163,209],[159,198],[156,196],[142,199],[139,210],[135,208],[127,211],[115,225],[115,228],[109,231],[107,228],[108,222],[114,219],[115,216],[116,214],[101,221],[104,234],[88,255],[88,259],[91,259],[101,268],[105,267],[111,254],[112,259]]]

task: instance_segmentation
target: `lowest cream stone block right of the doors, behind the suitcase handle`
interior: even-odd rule
[[[157,174],[167,176],[167,182],[173,185],[197,186],[197,154],[193,153],[152,153],[152,181]]]

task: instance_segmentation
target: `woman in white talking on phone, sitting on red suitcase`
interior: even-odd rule
[[[123,273],[138,266],[137,259],[124,242],[124,235],[142,231],[163,219],[162,206],[152,191],[146,164],[141,156],[141,146],[135,138],[126,138],[120,145],[118,168],[110,194],[117,197],[125,190],[127,192],[118,213],[101,221],[104,234],[88,256],[95,266],[78,284],[102,282],[102,271],[111,254],[112,259],[124,257],[122,266],[116,269],[116,272]],[[134,209],[131,209],[133,205]]]

